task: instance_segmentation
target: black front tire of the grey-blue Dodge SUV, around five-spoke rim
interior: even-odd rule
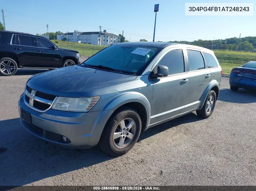
[[[134,132],[134,137],[131,139],[131,142],[127,146],[125,146],[124,148],[118,148],[114,143],[113,135],[114,135],[114,132],[116,131],[116,128],[118,128],[118,124],[123,119],[127,119],[127,118],[130,118],[135,122],[136,128]],[[134,126],[132,128],[134,128]],[[137,113],[136,110],[130,107],[123,107],[120,110],[116,111],[108,119],[108,122],[102,131],[101,138],[98,145],[101,148],[101,150],[106,152],[107,154],[111,156],[120,156],[127,153],[135,145],[135,143],[137,142],[140,136],[140,133],[141,133],[141,118],[139,114]],[[126,140],[126,138],[124,140]]]

